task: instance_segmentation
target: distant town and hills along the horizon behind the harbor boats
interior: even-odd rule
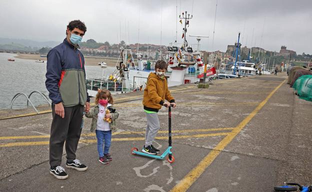
[[[104,43],[96,42],[94,39],[88,39],[80,44],[80,50],[85,56],[99,56],[99,57],[118,57],[120,46],[127,47],[131,49],[133,58],[136,58],[136,53],[140,53],[142,59],[145,60],[158,60],[160,59],[160,45],[155,44],[125,44],[124,41],[120,41],[119,44],[110,44],[108,41]],[[0,45],[0,52],[12,52],[12,53],[30,53],[30,54],[41,54],[46,55],[51,47],[42,47],[37,50],[33,50],[34,47],[23,47],[18,44]],[[137,51],[138,47],[138,51]],[[232,62],[235,60],[235,50],[237,43],[227,45],[225,52],[220,50],[213,51],[213,64],[218,65],[220,63]],[[252,62],[263,62],[263,60],[268,63],[268,65],[273,65],[281,62],[292,62],[295,65],[308,65],[311,63],[312,54],[297,54],[295,50],[287,49],[285,45],[280,47],[279,52],[265,50],[260,47],[246,47],[239,43],[240,47],[240,60],[250,60]],[[167,51],[168,47],[162,45],[161,52]],[[196,51],[196,47],[192,47],[193,51]],[[250,51],[250,53],[249,53]],[[200,51],[201,56],[205,52]],[[208,52],[211,55],[212,52]],[[250,56],[248,58],[248,56]]]

